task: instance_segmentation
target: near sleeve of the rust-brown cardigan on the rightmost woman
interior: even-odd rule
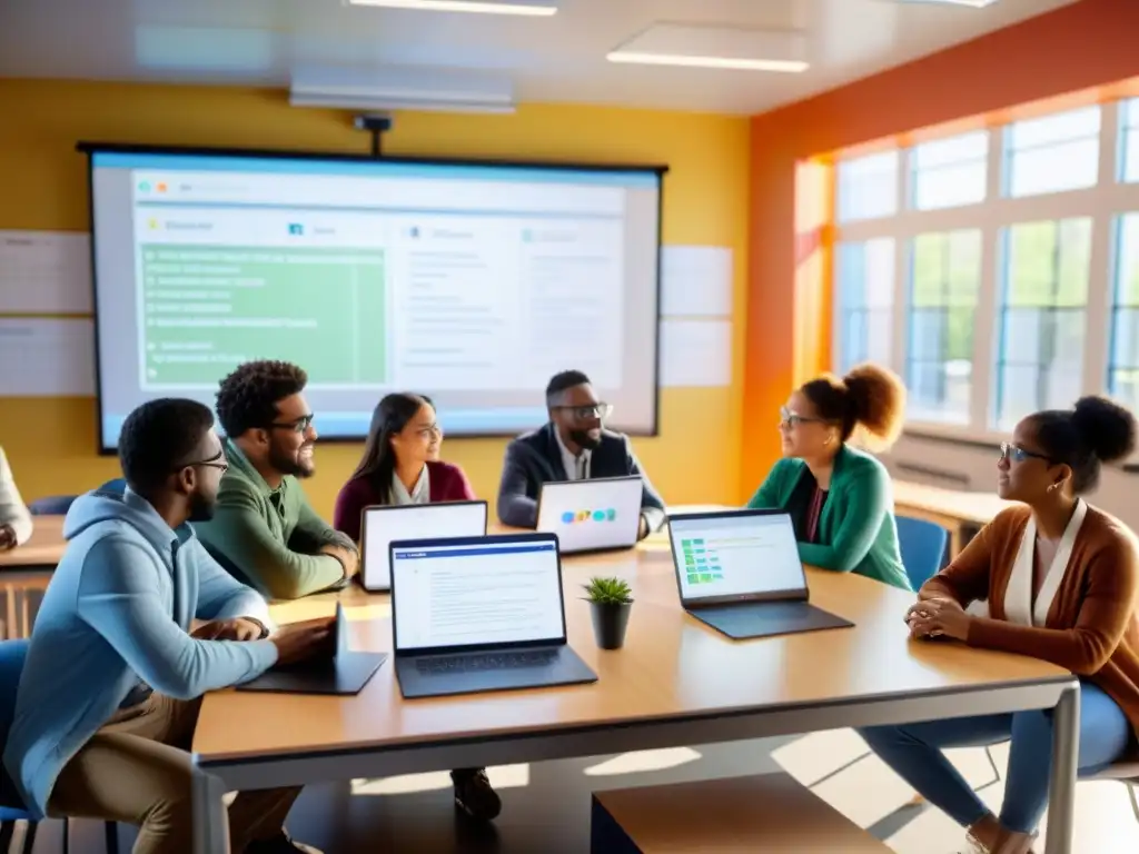
[[[1040,629],[974,617],[969,646],[1042,658],[1077,676],[1099,672],[1134,615],[1139,576],[1132,541],[1120,532],[1109,536],[1111,541],[1089,558],[1087,586],[1073,627]]]

